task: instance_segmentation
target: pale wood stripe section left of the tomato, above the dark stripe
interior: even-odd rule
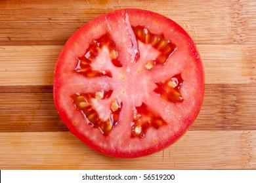
[[[0,85],[51,85],[62,46],[1,46]]]

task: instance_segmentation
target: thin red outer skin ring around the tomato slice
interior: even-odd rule
[[[64,60],[64,58],[66,56],[66,53],[68,53],[70,51],[70,48],[75,49],[75,42],[77,42],[77,40],[79,40],[79,37],[81,37],[81,33],[86,33],[95,24],[100,24],[100,22],[103,22],[106,17],[113,18],[113,17],[117,16],[117,14],[123,14],[123,13],[137,14],[137,15],[148,14],[148,16],[161,18],[164,22],[166,22],[166,24],[169,24],[170,27],[174,27],[177,31],[179,31],[179,33],[182,33],[184,35],[184,37],[186,37],[186,39],[190,42],[189,44],[190,44],[191,52],[194,56],[194,61],[196,62],[196,65],[198,68],[197,73],[199,76],[201,76],[200,80],[198,80],[198,82],[200,84],[200,91],[198,91],[198,95],[200,95],[199,96],[200,100],[198,100],[196,102],[195,108],[197,110],[194,111],[194,114],[192,114],[190,116],[190,118],[186,119],[186,121],[187,121],[186,126],[182,127],[182,130],[179,131],[179,134],[176,134],[175,136],[170,137],[169,141],[165,141],[160,146],[155,146],[154,148],[149,148],[148,150],[138,151],[136,153],[120,152],[118,150],[111,150],[111,149],[108,149],[108,150],[102,149],[102,148],[98,147],[97,144],[95,144],[94,142],[89,141],[88,139],[85,139],[85,137],[81,133],[77,133],[77,129],[75,129],[74,125],[72,125],[72,122],[70,122],[65,110],[61,107],[60,100],[59,100],[59,88],[61,86],[61,83],[59,82],[59,80],[60,80],[59,78],[62,77],[62,72],[61,72],[62,70],[60,67],[62,65],[62,60]],[[114,12],[110,12],[108,14],[103,14],[101,16],[94,18],[93,20],[91,20],[90,22],[88,22],[87,24],[85,24],[81,28],[79,28],[77,31],[75,31],[74,35],[72,35],[72,37],[70,37],[70,39],[68,39],[64,48],[62,48],[62,51],[61,51],[60,56],[58,57],[58,61],[56,63],[56,67],[55,67],[55,71],[54,71],[53,97],[54,97],[54,104],[55,104],[56,110],[58,111],[58,114],[59,114],[60,118],[62,119],[62,121],[66,124],[66,126],[68,127],[70,132],[72,134],[74,134],[75,137],[77,137],[82,142],[84,142],[87,146],[89,146],[96,152],[99,152],[100,154],[104,154],[105,156],[116,157],[116,158],[138,158],[138,157],[142,157],[142,156],[148,156],[148,155],[156,153],[156,152],[160,152],[161,150],[167,148],[171,144],[178,141],[186,133],[186,131],[188,131],[189,127],[193,124],[194,120],[196,120],[196,117],[198,116],[198,114],[200,112],[200,108],[202,107],[203,95],[205,92],[204,84],[205,84],[205,78],[204,78],[202,59],[200,58],[198,49],[196,48],[196,44],[191,39],[190,35],[188,35],[188,33],[186,33],[186,31],[179,24],[177,24],[176,22],[174,22],[173,20],[171,20],[165,16],[162,16],[161,14],[158,14],[156,12],[151,12],[148,10],[128,8],[128,9],[116,10]]]

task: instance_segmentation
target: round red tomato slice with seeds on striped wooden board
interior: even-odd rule
[[[173,144],[192,125],[203,101],[203,65],[173,20],[117,10],[68,39],[53,92],[63,122],[87,146],[135,158]]]

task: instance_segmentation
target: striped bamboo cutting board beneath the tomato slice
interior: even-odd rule
[[[102,156],[76,139],[53,103],[64,43],[92,18],[144,8],[180,24],[205,67],[190,130],[151,156]],[[0,1],[0,169],[256,169],[256,1]]]

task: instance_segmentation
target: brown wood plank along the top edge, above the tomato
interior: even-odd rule
[[[63,45],[92,18],[144,8],[175,20],[198,44],[254,44],[256,2],[245,1],[1,1],[0,45]]]

